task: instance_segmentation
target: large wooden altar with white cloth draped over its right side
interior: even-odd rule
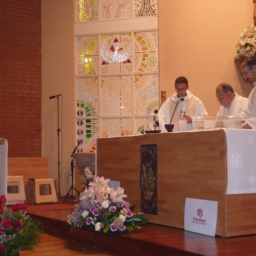
[[[157,145],[157,215],[151,223],[184,228],[186,198],[218,201],[216,235],[256,233],[256,131],[201,131],[96,140],[96,174],[119,180],[141,211],[141,145]]]

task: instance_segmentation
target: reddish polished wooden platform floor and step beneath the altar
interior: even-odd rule
[[[122,256],[256,255],[256,235],[211,237],[151,223],[143,225],[144,230],[134,230],[131,234],[88,232],[85,229],[76,229],[70,233],[67,215],[73,212],[75,204],[76,201],[71,199],[60,199],[59,204],[27,204],[27,212],[32,218],[43,222],[47,233]]]

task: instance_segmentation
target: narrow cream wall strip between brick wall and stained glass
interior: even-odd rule
[[[48,177],[58,178],[58,101],[57,97],[49,99],[49,96],[62,94],[59,97],[62,195],[66,195],[71,185],[70,155],[75,147],[73,9],[71,0],[42,0],[42,157],[49,157]]]

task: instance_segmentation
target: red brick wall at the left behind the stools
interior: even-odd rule
[[[0,137],[41,157],[41,0],[0,0]]]

